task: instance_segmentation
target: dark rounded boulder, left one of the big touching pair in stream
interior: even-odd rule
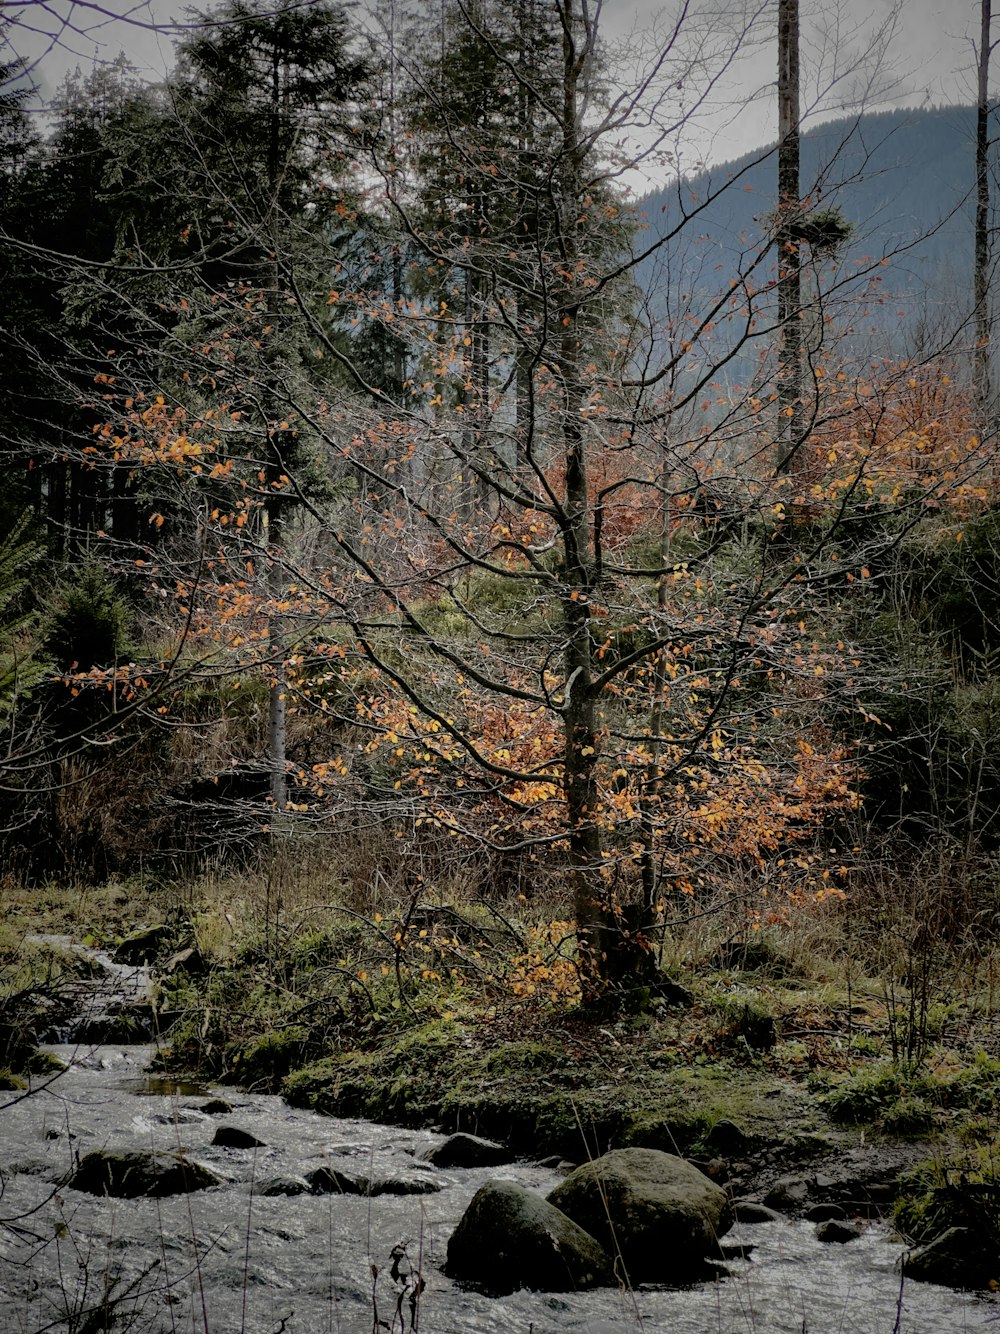
[[[491,1293],[569,1293],[611,1282],[597,1242],[513,1181],[480,1187],[448,1242],[448,1273]]]

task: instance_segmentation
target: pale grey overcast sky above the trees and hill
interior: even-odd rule
[[[677,3],[604,0],[601,31],[609,51],[625,67],[653,55],[676,19]],[[211,7],[207,0],[204,8]],[[688,75],[687,97],[695,88],[703,91],[707,69],[719,71],[747,15],[753,17],[756,37],[744,41],[741,56],[713,85],[677,145],[675,161],[679,157],[683,168],[727,161],[775,137],[773,0],[691,0],[691,41],[700,64]],[[977,12],[972,0],[803,0],[807,124],[861,101],[869,109],[972,101]],[[95,60],[111,60],[120,51],[151,77],[161,77],[172,64],[168,24],[188,19],[188,8],[171,0],[0,0],[7,47],[0,57],[36,60],[35,80],[43,96],[76,65],[87,71]],[[885,24],[892,31],[884,35],[883,49],[876,39]],[[655,177],[668,172],[663,163],[651,164],[647,185],[660,184]],[[641,188],[641,181],[633,184]]]

